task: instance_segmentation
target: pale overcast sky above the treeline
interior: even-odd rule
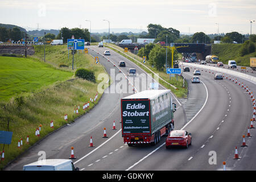
[[[250,34],[252,25],[256,34],[255,10],[255,0],[0,0],[0,23],[27,30],[81,27],[95,32],[108,30],[109,20],[110,32],[147,30],[152,23],[191,34]]]

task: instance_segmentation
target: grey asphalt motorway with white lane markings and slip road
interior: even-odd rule
[[[248,93],[232,80],[213,80],[212,72],[209,73],[209,69],[205,72],[204,68],[200,68],[201,83],[192,84],[192,71],[197,64],[188,64],[191,72],[183,73],[188,81],[188,98],[174,99],[177,104],[175,129],[192,133],[192,146],[167,150],[164,146],[166,137],[162,137],[156,146],[128,147],[124,144],[120,99],[147,89],[152,79],[137,65],[112,50],[110,56],[102,56],[105,50],[110,49],[89,46],[90,55],[99,57],[100,64],[104,65],[113,80],[99,104],[76,122],[46,137],[5,170],[22,170],[24,164],[38,160],[39,151],[45,151],[47,159],[68,159],[72,146],[76,157],[73,162],[82,171],[221,170],[224,161],[228,170],[256,169],[252,163],[256,159],[256,142],[253,138],[256,137],[256,129],[251,129],[253,137],[246,138],[248,147],[240,147],[242,135],[246,135],[253,116]],[[120,60],[126,61],[126,68],[117,67]],[[128,68],[136,68],[138,73],[135,79],[128,77],[130,84],[125,78]],[[183,68],[182,63],[180,68]],[[236,78],[249,86],[251,92],[256,92],[255,83]],[[134,91],[131,84],[135,86]],[[123,92],[119,92],[120,89]],[[160,89],[165,88],[160,86]],[[112,130],[113,121],[117,130]],[[102,138],[104,127],[108,138]],[[91,136],[95,147],[88,147]],[[233,159],[236,146],[241,157],[238,160]],[[212,154],[216,154],[216,158],[213,159]]]

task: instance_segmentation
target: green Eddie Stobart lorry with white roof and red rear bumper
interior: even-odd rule
[[[144,90],[121,99],[123,142],[128,146],[150,143],[174,129],[171,90]]]

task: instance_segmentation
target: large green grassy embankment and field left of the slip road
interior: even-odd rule
[[[89,109],[82,110],[82,105],[94,97],[97,92],[97,76],[105,73],[104,67],[94,64],[94,59],[85,53],[75,55],[77,68],[88,68],[95,72],[96,82],[82,79],[64,81],[74,78],[72,69],[53,67],[43,62],[43,47],[35,47],[35,55],[27,59],[0,57],[0,117],[10,119],[10,131],[13,132],[11,144],[5,145],[5,160],[0,163],[0,169],[32,144],[42,139],[53,130],[73,122],[79,115],[88,112],[97,104],[102,94]],[[46,60],[58,64],[72,65],[66,46],[47,46]],[[72,68],[72,67],[71,67]],[[80,105],[79,114],[74,114],[74,106]],[[68,114],[68,121],[64,115]],[[1,123],[6,122],[0,119]],[[50,122],[54,122],[54,129]],[[40,137],[35,136],[35,130],[42,125]],[[7,125],[0,125],[0,130],[6,130]],[[30,143],[26,143],[29,135]],[[23,146],[18,148],[18,140],[23,139]],[[0,145],[2,152],[3,144]]]

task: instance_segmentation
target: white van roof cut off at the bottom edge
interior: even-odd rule
[[[44,159],[23,166],[23,171],[79,171],[70,159]]]

